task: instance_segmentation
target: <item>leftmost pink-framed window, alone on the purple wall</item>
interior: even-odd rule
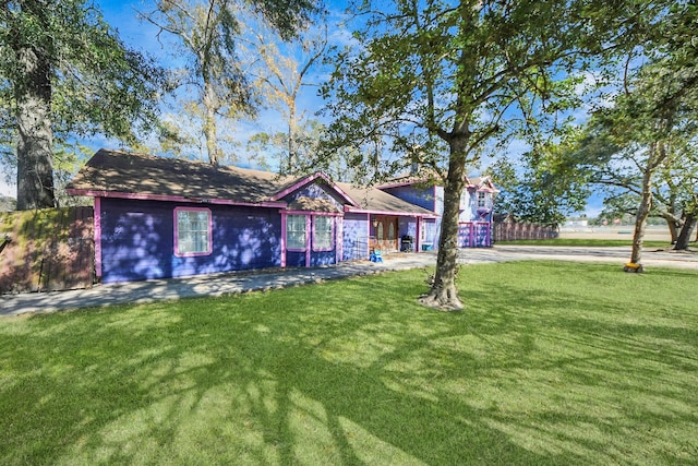
[[[210,211],[177,207],[174,210],[176,255],[210,254]]]

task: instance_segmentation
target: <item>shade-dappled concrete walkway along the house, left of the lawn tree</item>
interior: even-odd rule
[[[433,266],[432,253],[393,254],[384,262],[342,262],[313,268],[274,272],[226,273],[189,278],[154,279],[123,284],[95,285],[89,289],[27,292],[0,296],[0,318],[120,303],[144,303],[191,297],[234,295],[317,283],[334,278],[370,275]]]

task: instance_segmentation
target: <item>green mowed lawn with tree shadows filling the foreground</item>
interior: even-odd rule
[[[698,273],[517,262],[0,320],[0,464],[696,464]]]

